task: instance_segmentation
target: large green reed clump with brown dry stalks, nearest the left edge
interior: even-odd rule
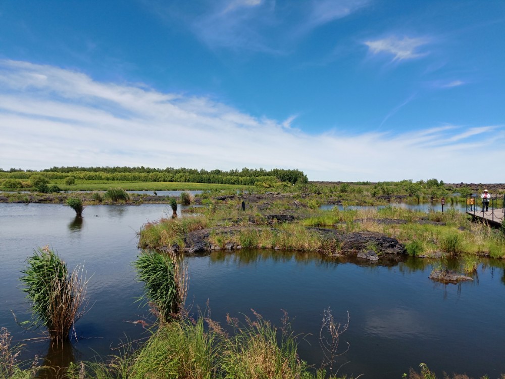
[[[65,262],[45,246],[34,251],[21,272],[23,292],[32,301],[32,325],[44,326],[53,341],[67,340],[70,329],[84,314],[80,310],[86,293],[82,268],[78,266],[70,273]]]

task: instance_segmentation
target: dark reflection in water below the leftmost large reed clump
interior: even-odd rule
[[[70,341],[63,343],[49,343],[47,355],[42,362],[45,367],[38,371],[37,377],[41,379],[63,379],[70,363],[75,362],[74,348]]]

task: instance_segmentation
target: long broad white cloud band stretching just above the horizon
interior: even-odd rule
[[[311,135],[202,97],[97,82],[53,66],[0,61],[0,167],[298,168],[311,180],[502,181],[503,125]],[[408,130],[406,126],[406,130]],[[450,170],[447,170],[450,167]]]

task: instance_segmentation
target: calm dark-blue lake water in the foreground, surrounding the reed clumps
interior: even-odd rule
[[[20,270],[33,249],[49,244],[71,267],[84,263],[88,297],[93,304],[76,324],[80,337],[73,359],[111,350],[126,340],[145,337],[148,312],[135,304],[142,285],[131,262],[138,251],[136,232],[147,221],[170,215],[166,204],[88,206],[82,222],[69,207],[53,204],[0,204],[0,326],[16,341],[39,336],[16,324],[29,319],[20,289]],[[441,285],[428,279],[428,260],[368,263],[314,254],[279,251],[215,252],[188,257],[188,304],[196,315],[209,301],[213,319],[225,324],[226,313],[243,319],[250,309],[280,325],[282,310],[292,319],[302,359],[319,366],[322,312],[346,321],[341,336],[341,373],[366,378],[399,378],[420,362],[441,374],[466,372],[498,377],[505,372],[505,262],[485,260],[474,281]],[[23,359],[44,357],[47,341],[25,342]],[[54,353],[54,352],[53,352]]]

